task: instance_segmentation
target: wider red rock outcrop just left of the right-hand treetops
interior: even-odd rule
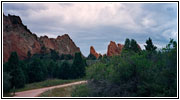
[[[110,41],[110,44],[108,45],[107,56],[119,55],[122,51],[122,48],[123,45],[116,45],[114,41]]]

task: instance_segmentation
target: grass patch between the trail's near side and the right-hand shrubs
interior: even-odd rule
[[[71,92],[74,88],[75,86],[55,88],[42,93],[39,97],[71,97]]]

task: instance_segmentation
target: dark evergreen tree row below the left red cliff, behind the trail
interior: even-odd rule
[[[28,59],[19,60],[16,52],[12,52],[7,63],[3,66],[3,92],[10,89],[22,88],[27,83],[40,82],[46,79],[77,79],[85,75],[87,66],[81,53],[75,57],[55,51],[50,53],[31,55]],[[73,62],[73,63],[72,63]]]

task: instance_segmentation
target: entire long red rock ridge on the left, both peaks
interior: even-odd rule
[[[20,59],[25,59],[28,51],[32,55],[42,53],[42,47],[46,48],[45,52],[53,49],[59,54],[80,52],[67,34],[55,39],[47,36],[39,38],[23,25],[19,16],[3,14],[3,62],[8,60],[13,51],[17,52]]]

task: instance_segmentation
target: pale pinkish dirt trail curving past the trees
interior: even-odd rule
[[[68,87],[68,86],[78,85],[78,84],[83,84],[83,83],[87,83],[87,81],[78,81],[78,82],[73,82],[73,83],[68,83],[68,84],[63,84],[63,85],[56,85],[56,86],[44,87],[40,89],[16,92],[14,97],[38,97],[41,93],[50,89]]]

